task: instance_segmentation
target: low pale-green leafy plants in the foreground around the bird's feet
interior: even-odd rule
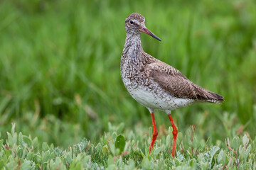
[[[144,135],[142,128],[125,130],[109,124],[110,132],[92,143],[84,138],[77,145],[66,149],[38,141],[38,137],[7,132],[6,142],[0,138],[1,169],[256,169],[256,137],[229,138],[217,145],[201,140],[193,128],[186,134],[179,132],[179,151],[171,156],[171,128],[160,134],[160,140],[149,154],[151,128]],[[4,145],[3,145],[4,143]]]

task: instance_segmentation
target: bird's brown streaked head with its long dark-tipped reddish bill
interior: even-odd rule
[[[125,19],[125,30],[129,34],[140,34],[146,33],[150,35],[152,38],[156,38],[156,40],[161,41],[154,33],[152,33],[148,28],[145,26],[145,18],[139,13],[132,13]]]

